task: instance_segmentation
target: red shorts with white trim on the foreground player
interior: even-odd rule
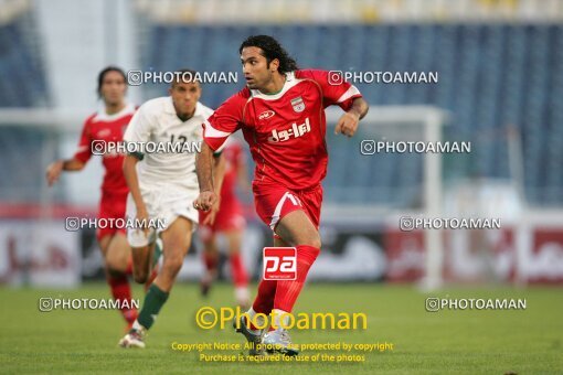
[[[302,210],[315,227],[319,228],[322,186],[291,190],[276,183],[253,183],[254,204],[259,218],[276,231],[279,221],[290,212]]]

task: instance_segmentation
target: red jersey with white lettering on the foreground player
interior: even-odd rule
[[[327,174],[325,108],[349,110],[357,97],[361,94],[351,84],[329,83],[326,71],[291,72],[277,94],[246,87],[230,97],[204,122],[203,137],[216,150],[242,129],[256,163],[255,181],[308,189]]]

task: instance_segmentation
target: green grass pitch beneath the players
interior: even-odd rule
[[[253,287],[253,291],[255,287]],[[146,350],[123,350],[125,324],[115,311],[39,311],[39,298],[108,298],[104,283],[77,290],[0,289],[1,373],[190,373],[190,374],[556,374],[563,373],[561,288],[455,288],[425,294],[408,286],[307,285],[296,312],[363,312],[368,329],[291,332],[295,343],[393,343],[393,351],[364,355],[362,363],[210,363],[177,343],[243,343],[232,329],[199,329],[203,306],[230,307],[232,287],[216,285],[208,300],[196,285],[174,287],[147,339]],[[525,298],[525,310],[426,312],[428,296]],[[141,298],[142,290],[135,289]],[[209,351],[206,353],[210,353]],[[238,354],[233,351],[212,353]],[[338,355],[341,352],[309,351]]]

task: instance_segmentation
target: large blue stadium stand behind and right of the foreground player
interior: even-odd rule
[[[563,162],[563,128],[557,127],[563,120],[563,103],[557,100],[563,94],[561,24],[153,24],[142,67],[170,71],[188,65],[205,72],[240,72],[237,47],[246,35],[258,33],[273,34],[288,51],[299,51],[296,57],[304,67],[438,72],[438,84],[357,86],[372,105],[426,104],[449,110],[452,124],[446,138],[472,143],[470,158],[457,158],[457,168],[449,169],[454,172],[508,178],[504,135],[507,127],[517,127],[524,144],[528,201],[538,205],[563,202],[563,172],[557,168]],[[238,85],[209,85],[203,100],[220,105],[243,85],[241,76],[238,81]],[[162,87],[149,86],[146,98],[161,95],[161,90]],[[392,189],[414,184],[414,193],[421,181],[419,170],[405,170],[399,164],[404,158],[380,156],[396,159],[394,168],[380,169],[376,158],[362,160],[359,153],[340,150],[333,137],[328,141],[332,158],[327,200],[399,200],[399,206],[413,202],[411,194],[397,196]],[[354,173],[355,170],[371,173]],[[367,192],[362,196],[338,189],[346,186],[342,184],[371,190],[362,190]],[[373,194],[373,189],[379,193]]]

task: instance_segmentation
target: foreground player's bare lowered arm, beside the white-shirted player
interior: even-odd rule
[[[201,152],[195,157],[195,171],[200,184],[200,195],[193,202],[196,210],[209,211],[217,200],[213,186],[213,150],[203,142]]]

